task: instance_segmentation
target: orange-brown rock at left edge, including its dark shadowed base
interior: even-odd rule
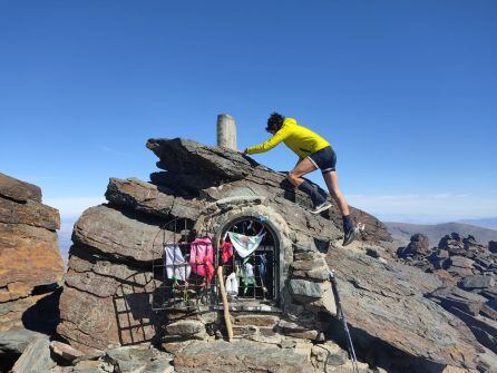
[[[59,227],[59,212],[41,203],[38,186],[0,174],[0,370],[43,335],[37,332],[55,333]]]

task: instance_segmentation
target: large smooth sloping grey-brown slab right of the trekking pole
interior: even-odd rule
[[[413,364],[406,371],[436,371],[438,364],[474,366],[479,347],[471,332],[423,296],[441,286],[436,276],[339,247],[328,253],[327,261],[337,271],[339,292],[360,349],[384,349],[382,341],[396,349],[397,355],[419,357],[405,357]]]

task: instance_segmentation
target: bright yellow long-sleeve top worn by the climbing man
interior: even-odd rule
[[[298,125],[295,119],[285,118],[283,125],[279,131],[273,135],[273,137],[262,144],[246,148],[246,153],[264,153],[274,148],[281,141],[292,149],[301,159],[305,158],[310,154],[325,148],[327,146],[330,146],[330,143],[328,143],[316,132]]]

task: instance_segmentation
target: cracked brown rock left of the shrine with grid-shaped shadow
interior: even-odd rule
[[[154,218],[136,219],[108,206],[91,207],[78,219],[58,326],[77,349],[104,351],[155,336],[156,315],[146,285],[154,247],[162,243],[159,232]],[[128,312],[127,302],[133,304]],[[147,325],[134,330],[137,320]]]

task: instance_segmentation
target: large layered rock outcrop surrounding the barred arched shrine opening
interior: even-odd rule
[[[153,342],[175,355],[178,371],[201,371],[198,359],[207,366],[214,359],[218,371],[232,371],[242,359],[252,370],[277,372],[260,353],[257,343],[264,343],[285,371],[344,372],[347,354],[331,342],[340,342],[332,267],[360,357],[371,366],[363,364],[361,371],[376,365],[389,372],[476,366],[481,347],[474,334],[425,296],[441,287],[441,279],[366,254],[363,246],[378,254],[389,245],[381,222],[352,208],[364,229],[361,241],[344,249],[338,208],[312,215],[309,198],[284,174],[191,140],[150,139],[147,147],[164,171],[152,174],[150,183],[111,178],[108,204],[87,209],[75,226],[58,326],[72,346],[90,353]],[[176,242],[183,232],[207,233],[216,242],[227,223],[246,216],[274,232],[279,296],[274,304],[246,302],[231,308],[236,343],[230,350],[218,341],[226,330],[217,303],[202,303],[195,311],[154,310],[162,278],[153,263],[162,261],[163,244]],[[174,219],[184,226],[166,224]],[[220,359],[221,350],[238,356]],[[292,363],[295,353],[305,359]],[[330,362],[328,354],[333,355]]]

